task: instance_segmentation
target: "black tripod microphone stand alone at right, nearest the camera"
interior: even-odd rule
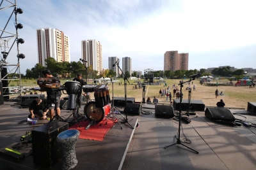
[[[179,131],[178,131],[178,134],[179,134],[179,135],[178,135],[178,138],[177,138],[177,136],[175,135],[175,138],[177,139],[176,143],[173,143],[172,145],[164,146],[164,149],[165,149],[165,148],[168,148],[168,147],[170,147],[170,146],[173,146],[173,145],[177,145],[177,144],[183,145],[183,146],[189,148],[188,146],[184,145],[184,144],[180,141],[180,125],[181,125],[182,87],[183,87],[183,84],[184,84],[184,83],[190,82],[191,80],[195,80],[195,78],[193,78],[193,79],[190,78],[190,80],[185,81],[185,82],[180,81],[180,83],[179,83],[179,85],[180,85],[180,108],[179,108]],[[192,148],[189,148],[189,149],[190,149],[190,150],[193,150]],[[196,150],[193,150],[193,152],[195,152],[195,153],[197,153],[197,154],[199,153],[199,152],[197,152]]]

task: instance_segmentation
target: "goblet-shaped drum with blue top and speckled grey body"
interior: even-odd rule
[[[76,129],[70,129],[57,136],[57,142],[63,148],[62,170],[73,169],[77,165],[75,146],[79,134],[80,132]]]

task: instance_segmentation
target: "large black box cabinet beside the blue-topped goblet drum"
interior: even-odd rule
[[[62,158],[62,149],[56,138],[60,132],[68,130],[67,122],[49,122],[32,131],[34,164],[51,168]]]

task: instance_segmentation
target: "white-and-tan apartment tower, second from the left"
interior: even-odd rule
[[[87,60],[86,66],[92,66],[93,70],[100,74],[103,71],[102,46],[95,39],[81,41],[82,59]]]

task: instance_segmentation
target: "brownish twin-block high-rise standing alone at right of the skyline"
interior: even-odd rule
[[[167,51],[164,53],[164,71],[188,70],[188,53]]]

